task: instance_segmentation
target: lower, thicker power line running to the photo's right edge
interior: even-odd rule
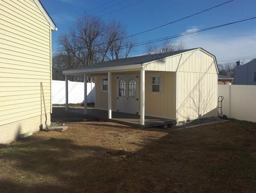
[[[231,22],[231,23],[225,23],[225,24],[222,24],[222,25],[214,26],[214,27],[207,27],[207,28],[204,28],[204,29],[195,30],[195,31],[191,31],[191,32],[185,32],[185,33],[181,33],[181,34],[177,34],[177,35],[173,35],[173,36],[168,36],[168,37],[164,37],[164,38],[158,38],[158,39],[148,40],[148,41],[145,41],[145,42],[130,44],[130,45],[128,45],[128,47],[129,46],[137,47],[137,46],[142,46],[142,45],[149,44],[149,43],[156,43],[156,42],[160,42],[160,41],[163,41],[163,40],[179,38],[179,37],[182,37],[182,36],[186,36],[186,35],[190,35],[190,34],[194,34],[194,33],[198,33],[198,32],[204,32],[204,31],[215,29],[215,28],[219,28],[219,27],[229,26],[229,25],[232,25],[232,24],[236,24],[236,23],[240,23],[240,22],[244,22],[244,21],[249,21],[249,20],[252,20],[252,19],[256,19],[256,16],[255,17],[251,17],[251,18],[247,18],[247,19],[244,19],[244,20],[240,20],[240,21],[234,21],[234,22]],[[125,49],[125,48],[126,48],[126,46],[125,47],[123,46],[120,49]],[[59,51],[65,51],[65,50],[59,50]],[[103,51],[101,51],[101,52],[98,52],[98,51],[99,50],[97,50],[97,52],[95,52],[94,54],[103,53]],[[59,56],[55,56],[55,57],[59,57]],[[60,57],[62,57],[62,56],[60,56]]]

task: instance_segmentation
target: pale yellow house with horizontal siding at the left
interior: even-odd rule
[[[39,0],[0,0],[0,143],[44,125],[51,112],[51,31]]]

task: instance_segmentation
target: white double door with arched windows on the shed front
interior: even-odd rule
[[[117,111],[138,114],[138,76],[117,76]]]

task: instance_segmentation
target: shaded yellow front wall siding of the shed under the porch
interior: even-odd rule
[[[127,74],[128,75],[128,74]],[[134,75],[134,73],[132,73]],[[138,75],[138,112],[140,113],[140,74]],[[153,75],[164,77],[164,92],[152,93],[148,91],[148,78]],[[117,108],[117,75],[112,75],[112,110]],[[108,92],[101,91],[101,79],[107,76],[95,76],[95,108],[108,109]],[[174,72],[150,72],[145,75],[145,114],[155,117],[175,118],[176,81]]]

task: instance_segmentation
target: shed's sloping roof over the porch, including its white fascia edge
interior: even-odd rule
[[[130,58],[123,58],[123,59],[114,59],[110,61],[95,63],[92,65],[84,66],[82,68],[76,68],[73,70],[65,70],[63,74],[79,74],[79,73],[87,73],[87,72],[102,72],[102,71],[111,71],[111,70],[129,70],[129,69],[138,69],[142,67],[142,64],[163,59],[169,56],[174,56],[177,54],[182,54],[185,52],[189,52],[191,50],[202,49],[202,48],[192,48],[192,49],[185,49],[180,51],[174,52],[167,52],[161,54],[150,54],[150,55],[143,55],[143,56],[135,56]]]

